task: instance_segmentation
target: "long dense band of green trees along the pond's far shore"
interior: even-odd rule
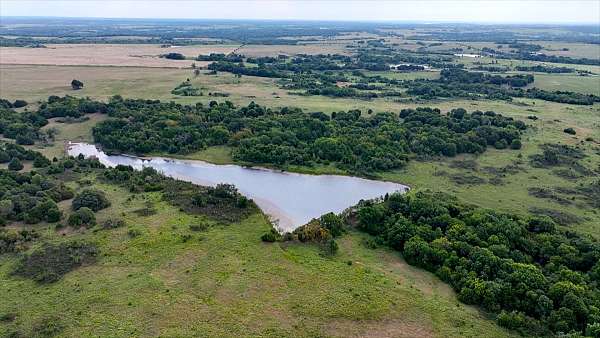
[[[454,156],[480,153],[487,145],[520,147],[521,121],[494,112],[437,109],[403,110],[361,116],[359,110],[306,114],[299,109],[270,110],[255,103],[183,106],[113,98],[113,117],[93,129],[105,149],[126,153],[186,153],[229,145],[242,162],[313,165],[332,163],[356,172],[402,166],[411,153]]]

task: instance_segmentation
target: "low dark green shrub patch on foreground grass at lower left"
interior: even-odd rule
[[[85,242],[43,243],[19,260],[13,274],[51,283],[81,265],[93,263],[96,255],[96,247]]]

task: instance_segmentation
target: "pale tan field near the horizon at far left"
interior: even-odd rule
[[[238,45],[205,45],[162,48],[160,45],[124,44],[61,44],[47,48],[0,48],[0,64],[61,65],[61,66],[139,66],[139,67],[190,67],[191,60],[169,60],[159,55],[181,53],[187,57],[199,54],[230,53]],[[205,66],[208,62],[198,62]]]

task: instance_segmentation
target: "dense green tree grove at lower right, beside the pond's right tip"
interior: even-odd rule
[[[461,205],[440,193],[393,194],[349,216],[413,265],[452,285],[458,298],[534,336],[598,334],[600,243],[522,218]]]

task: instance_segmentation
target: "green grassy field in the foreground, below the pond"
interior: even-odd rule
[[[64,337],[510,335],[397,253],[365,247],[362,234],[344,235],[339,254],[324,257],[309,245],[261,242],[270,227],[261,214],[217,224],[184,214],[155,193],[133,196],[93,184],[112,201],[99,221],[119,216],[126,225],[58,232],[36,226],[44,240],[82,239],[101,252],[95,264],[53,284],[10,276],[16,257],[0,257],[0,315],[14,316],[0,322],[0,336],[32,336],[48,321]],[[134,213],[146,203],[158,213]],[[61,203],[65,210],[69,205]],[[196,223],[209,230],[191,231]]]

